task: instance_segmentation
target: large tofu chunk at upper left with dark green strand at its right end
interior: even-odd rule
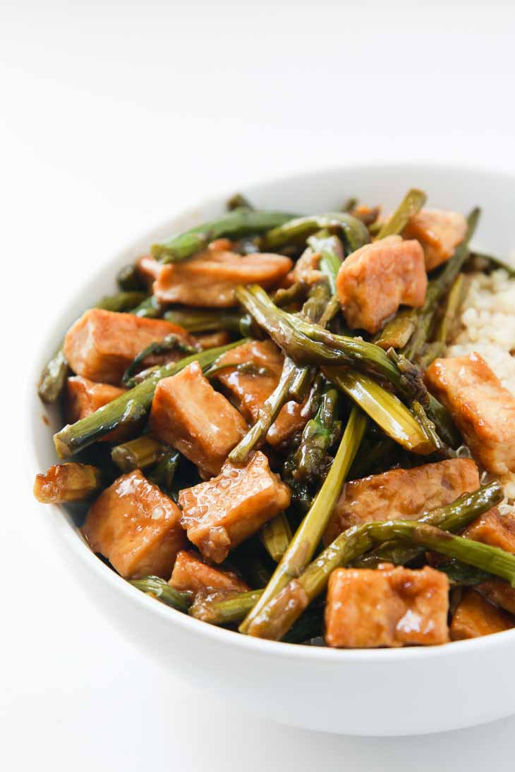
[[[90,381],[117,385],[141,350],[170,334],[177,335],[184,343],[191,343],[186,330],[178,324],[92,308],[68,330],[64,353],[77,375]],[[180,357],[178,353],[177,358]]]

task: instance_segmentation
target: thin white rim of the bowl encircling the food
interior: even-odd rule
[[[248,185],[245,185],[245,190],[252,197],[252,191],[261,187],[273,186],[275,184],[281,185],[298,185],[301,181],[307,178],[320,177],[324,178],[329,174],[345,174],[349,172],[358,173],[362,169],[370,171],[371,168],[377,168],[384,174],[388,171],[394,173],[395,170],[402,169],[407,171],[408,169],[418,169],[430,171],[434,173],[442,173],[446,171],[452,174],[461,174],[463,176],[483,174],[492,178],[505,178],[506,180],[513,181],[515,184],[515,173],[506,169],[495,169],[488,166],[482,166],[475,164],[473,167],[466,164],[446,164],[446,163],[431,163],[429,161],[360,161],[356,163],[343,164],[338,166],[331,166],[325,168],[308,168],[299,173],[286,174],[284,176],[276,176],[273,178],[258,178],[252,181]],[[222,201],[225,201],[232,195],[233,191],[225,191],[219,194],[211,195],[209,198],[202,199],[193,205],[181,209],[175,215],[170,216],[166,220],[154,225],[147,229],[144,233],[137,235],[131,239],[130,242],[124,243],[119,249],[114,250],[109,259],[103,260],[99,263],[98,268],[93,273],[93,278],[100,279],[106,272],[109,266],[120,259],[120,256],[124,252],[128,252],[130,249],[136,249],[137,245],[141,242],[151,241],[154,239],[154,234],[158,231],[162,231],[168,226],[173,227],[171,224],[180,221],[182,218],[191,218],[198,212],[198,209],[212,208],[221,205]],[[70,297],[67,297],[66,303],[59,306],[57,313],[53,314],[54,320],[50,330],[43,337],[43,341],[48,341],[50,337],[55,333],[56,327],[59,326],[60,320],[66,315],[67,310],[75,307],[81,307],[81,291],[77,289],[76,293]],[[50,348],[50,344],[47,342],[47,347]],[[43,344],[44,348],[44,344]],[[37,357],[35,357],[37,358]],[[29,428],[29,448],[30,448],[30,472],[33,476],[39,472],[40,465],[36,452],[36,443],[34,442],[34,436],[38,431],[42,430],[42,422],[40,415],[36,415],[34,405],[41,406],[42,403],[39,399],[35,399],[35,384],[39,379],[40,363],[36,361],[32,365],[29,372],[29,378],[26,381],[25,386],[25,405],[27,405],[28,423]],[[35,506],[37,503],[34,502]],[[507,630],[503,632],[494,633],[493,635],[484,635],[480,638],[470,638],[464,641],[453,641],[452,645],[443,644],[438,646],[406,646],[399,648],[330,648],[326,646],[310,646],[301,644],[289,644],[285,642],[269,641],[263,638],[254,638],[250,635],[240,635],[235,631],[228,630],[216,625],[209,625],[207,622],[195,619],[187,614],[177,611],[160,601],[156,601],[154,598],[147,596],[136,587],[133,587],[127,580],[121,577],[113,569],[103,563],[96,554],[90,550],[90,547],[86,544],[85,540],[81,537],[80,531],[77,528],[70,526],[66,517],[63,517],[64,508],[59,504],[45,504],[40,505],[49,511],[52,515],[53,525],[56,527],[59,536],[63,538],[66,546],[69,550],[76,555],[76,559],[80,560],[90,571],[97,574],[99,581],[107,581],[114,592],[118,594],[124,594],[128,601],[132,600],[135,604],[139,605],[144,613],[151,615],[158,615],[165,624],[180,625],[185,632],[191,635],[200,635],[205,638],[206,642],[212,641],[219,645],[227,645],[232,648],[241,649],[243,652],[259,652],[266,655],[277,655],[281,658],[293,658],[297,660],[304,660],[306,662],[327,662],[331,664],[333,662],[411,662],[417,659],[435,659],[442,656],[461,657],[465,652],[473,654],[479,652],[481,649],[490,649],[493,647],[502,647],[507,645],[513,645],[515,642],[515,628],[513,630]]]

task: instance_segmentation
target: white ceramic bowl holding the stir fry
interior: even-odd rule
[[[393,208],[417,186],[432,205],[468,212],[483,206],[476,245],[506,255],[513,243],[515,177],[477,169],[427,164],[356,166],[304,174],[243,191],[259,207],[324,212],[345,198]],[[223,211],[226,195],[171,218],[114,256],[69,298],[53,320],[35,377],[53,354],[77,309],[114,288],[117,269],[152,242]],[[30,398],[34,472],[56,462],[45,408]],[[272,720],[314,730],[360,735],[409,735],[451,730],[515,713],[515,631],[433,648],[345,651],[261,641],[180,614],[137,591],[89,550],[59,506],[46,507],[56,547],[81,577],[99,608],[166,668]]]

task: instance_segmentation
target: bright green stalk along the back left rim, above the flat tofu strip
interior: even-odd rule
[[[152,255],[161,262],[178,262],[205,249],[214,239],[220,239],[222,236],[239,239],[242,236],[262,233],[283,225],[294,216],[286,212],[259,212],[240,207],[218,220],[205,222],[166,242],[154,244]]]

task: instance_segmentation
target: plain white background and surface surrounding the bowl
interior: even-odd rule
[[[21,397],[61,298],[211,192],[364,158],[515,171],[514,32],[508,2],[2,4],[2,769],[513,770],[515,718],[327,736],[158,670],[59,563]]]

